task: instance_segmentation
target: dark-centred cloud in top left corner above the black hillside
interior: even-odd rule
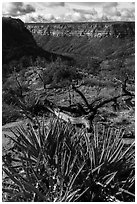
[[[35,8],[30,4],[22,2],[8,2],[3,4],[4,16],[22,16],[27,13],[35,12]]]

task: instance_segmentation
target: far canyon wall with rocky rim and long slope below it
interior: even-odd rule
[[[26,24],[44,50],[74,58],[78,66],[134,57],[134,22]]]

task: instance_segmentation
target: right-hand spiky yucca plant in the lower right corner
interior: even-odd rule
[[[126,148],[123,135],[121,130],[101,125],[93,127],[90,137],[84,135],[91,169],[87,180],[94,183],[91,192],[96,189],[92,201],[127,201],[127,198],[133,201],[135,198],[134,143]]]

